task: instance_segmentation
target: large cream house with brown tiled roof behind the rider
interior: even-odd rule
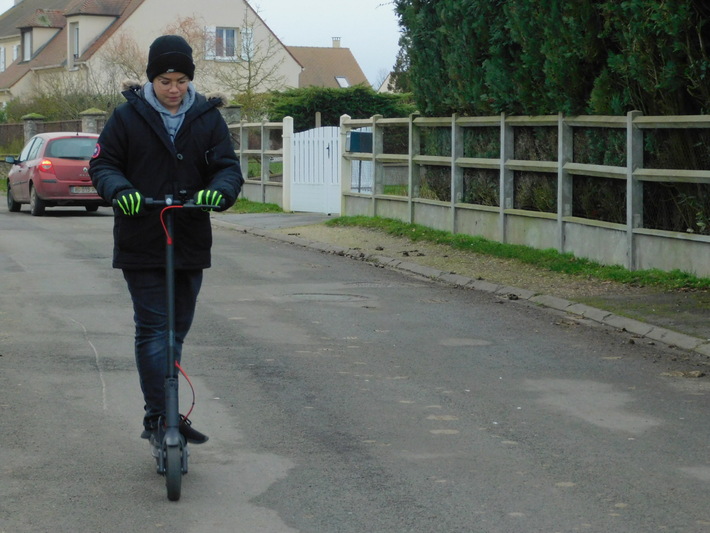
[[[248,2],[229,6],[222,0],[15,0],[0,15],[0,102],[49,89],[117,92],[127,77],[145,80],[148,48],[163,33],[190,42],[195,84],[203,92],[298,87],[302,64]]]

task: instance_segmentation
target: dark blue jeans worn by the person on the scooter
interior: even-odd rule
[[[158,417],[165,415],[168,350],[165,270],[124,270],[123,277],[133,300],[136,366],[145,401],[143,425],[150,429]],[[178,362],[195,316],[201,286],[202,270],[175,271],[175,360]]]

